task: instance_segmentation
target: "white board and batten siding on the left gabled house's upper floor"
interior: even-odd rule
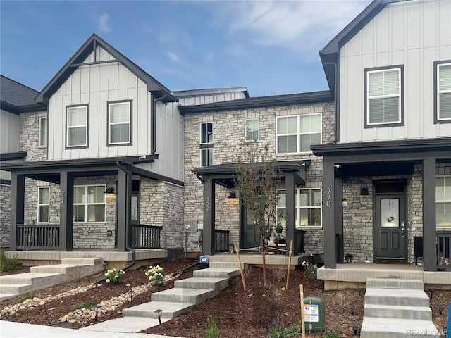
[[[97,61],[111,61],[113,56],[101,46],[97,46]],[[90,54],[84,63],[94,62]],[[107,146],[108,140],[108,102],[132,100],[132,144]],[[50,97],[49,111],[49,160],[66,160],[76,158],[105,158],[121,156],[142,156],[150,154],[151,149],[151,115],[152,93],[135,74],[121,63],[103,63],[78,67],[60,88]],[[66,149],[66,107],[89,104],[88,146],[78,149]],[[183,117],[177,116],[178,110],[162,108],[166,106],[157,102],[157,130],[176,130],[183,132]],[[161,116],[161,115],[164,116]],[[163,123],[163,126],[159,124]],[[175,125],[177,126],[175,126]],[[159,130],[161,132],[161,130]],[[163,154],[161,146],[171,143],[183,144],[183,134],[168,132],[157,133],[159,160],[146,163],[142,168],[183,180],[183,166],[173,168],[174,156]],[[164,149],[164,151],[167,148]],[[172,151],[170,149],[169,151]],[[183,151],[178,156],[183,157]],[[173,175],[168,175],[173,173]]]

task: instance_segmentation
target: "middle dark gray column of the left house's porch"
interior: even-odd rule
[[[73,250],[73,173],[60,173],[59,249]]]

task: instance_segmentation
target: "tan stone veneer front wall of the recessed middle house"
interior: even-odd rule
[[[323,143],[334,139],[333,102],[255,108],[245,111],[221,111],[213,113],[187,113],[185,115],[185,222],[203,223],[203,186],[191,172],[200,166],[200,123],[212,122],[214,132],[214,165],[234,163],[240,139],[245,136],[245,120],[259,118],[259,144],[268,145],[271,154],[276,154],[276,117],[321,113],[323,121]],[[276,161],[311,159],[306,170],[306,187],[322,187],[323,161],[313,154],[276,156]],[[218,230],[230,230],[230,242],[240,243],[240,206],[238,201],[227,199],[229,192],[216,184],[216,220]],[[323,253],[323,230],[306,229],[304,249],[307,253]],[[189,250],[195,251],[197,242],[189,238]]]

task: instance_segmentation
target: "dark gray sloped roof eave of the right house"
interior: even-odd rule
[[[362,30],[362,28],[369,23],[373,18],[380,13],[383,8],[395,2],[410,1],[410,0],[375,0],[369,4],[368,7],[357,15],[336,37],[334,37],[321,51],[319,56],[323,63],[324,73],[326,73],[327,82],[331,92],[335,91],[335,65],[338,63],[338,54],[340,48],[350,41],[354,35]]]

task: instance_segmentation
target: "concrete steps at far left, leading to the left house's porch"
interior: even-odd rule
[[[0,301],[104,270],[101,258],[63,258],[61,264],[32,266],[30,273],[0,276]]]

